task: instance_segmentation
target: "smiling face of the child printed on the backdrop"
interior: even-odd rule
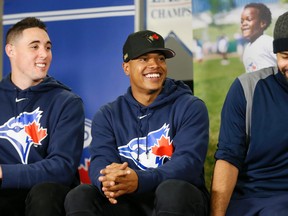
[[[259,18],[257,8],[245,8],[241,14],[241,31],[245,39],[251,43],[261,36],[266,27],[266,23]]]

